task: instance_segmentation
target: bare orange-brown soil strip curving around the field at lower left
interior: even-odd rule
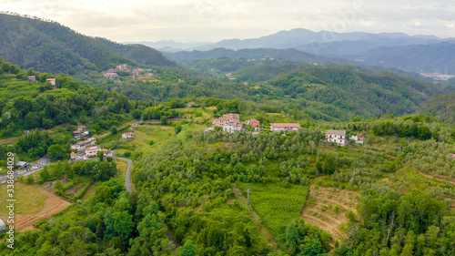
[[[15,230],[17,231],[35,230],[35,227],[33,225],[36,222],[38,222],[39,220],[47,219],[71,205],[70,202],[57,197],[56,195],[47,191],[46,189],[40,188],[39,193],[47,197],[43,208],[41,208],[34,214],[16,214],[14,224]],[[5,217],[1,218],[5,220]]]

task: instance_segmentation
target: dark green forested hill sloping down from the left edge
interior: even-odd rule
[[[118,64],[175,67],[147,46],[120,45],[77,33],[56,22],[0,14],[0,56],[22,68],[78,75]]]

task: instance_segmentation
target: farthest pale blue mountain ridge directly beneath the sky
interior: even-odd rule
[[[215,48],[227,48],[232,50],[245,48],[275,48],[287,49],[296,48],[313,54],[350,54],[369,50],[379,46],[409,46],[429,45],[443,41],[455,42],[454,39],[441,39],[437,36],[408,36],[403,33],[365,33],[349,32],[334,33],[329,31],[313,32],[304,28],[296,28],[289,31],[249,39],[227,39],[217,43],[177,43],[174,41],[159,41],[157,43],[142,42],[147,46],[156,48],[171,47],[187,51],[199,50],[208,51]],[[341,43],[336,43],[341,42]],[[361,46],[359,48],[359,46]],[[316,47],[316,48],[315,48]],[[325,50],[327,48],[327,50]],[[318,49],[318,50],[315,50]]]

